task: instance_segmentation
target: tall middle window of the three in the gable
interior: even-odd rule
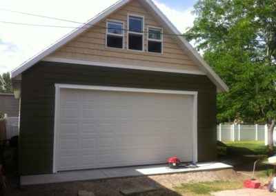
[[[144,50],[144,18],[128,17],[128,49]]]

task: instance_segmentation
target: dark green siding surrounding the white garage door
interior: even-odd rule
[[[22,75],[21,175],[52,173],[55,84],[198,91],[198,158],[216,159],[216,87],[208,77],[41,61]]]

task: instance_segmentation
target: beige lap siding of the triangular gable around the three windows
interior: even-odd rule
[[[161,25],[147,12],[138,1],[131,1],[126,6],[111,14],[96,26],[86,30],[77,38],[68,42],[65,46],[54,52],[50,57],[77,59],[83,61],[99,61],[103,63],[119,63],[130,66],[145,66],[152,68],[172,68],[177,70],[198,71],[199,67],[190,60],[184,51],[178,46],[177,41],[170,36],[164,35],[163,54],[146,52],[147,35],[145,33],[145,51],[127,50],[127,34],[124,37],[124,49],[106,47],[106,21],[108,19],[124,21],[127,29],[128,14],[138,14],[145,18],[145,31],[148,26]],[[165,33],[166,30],[164,29]]]

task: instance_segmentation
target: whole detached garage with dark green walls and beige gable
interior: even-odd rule
[[[14,70],[21,175],[215,160],[228,87],[179,34],[123,0]]]

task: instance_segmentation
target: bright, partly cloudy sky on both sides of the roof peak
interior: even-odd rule
[[[175,24],[181,32],[193,26],[195,16],[193,4],[196,0],[153,0],[157,7]],[[72,28],[50,28],[21,26],[3,23],[34,23],[50,26],[77,27],[76,23],[44,19],[8,12],[14,10],[56,17],[72,21],[86,22],[97,13],[108,8],[117,0],[3,0],[0,4],[0,73],[10,72],[30,57],[55,43],[68,34]]]

